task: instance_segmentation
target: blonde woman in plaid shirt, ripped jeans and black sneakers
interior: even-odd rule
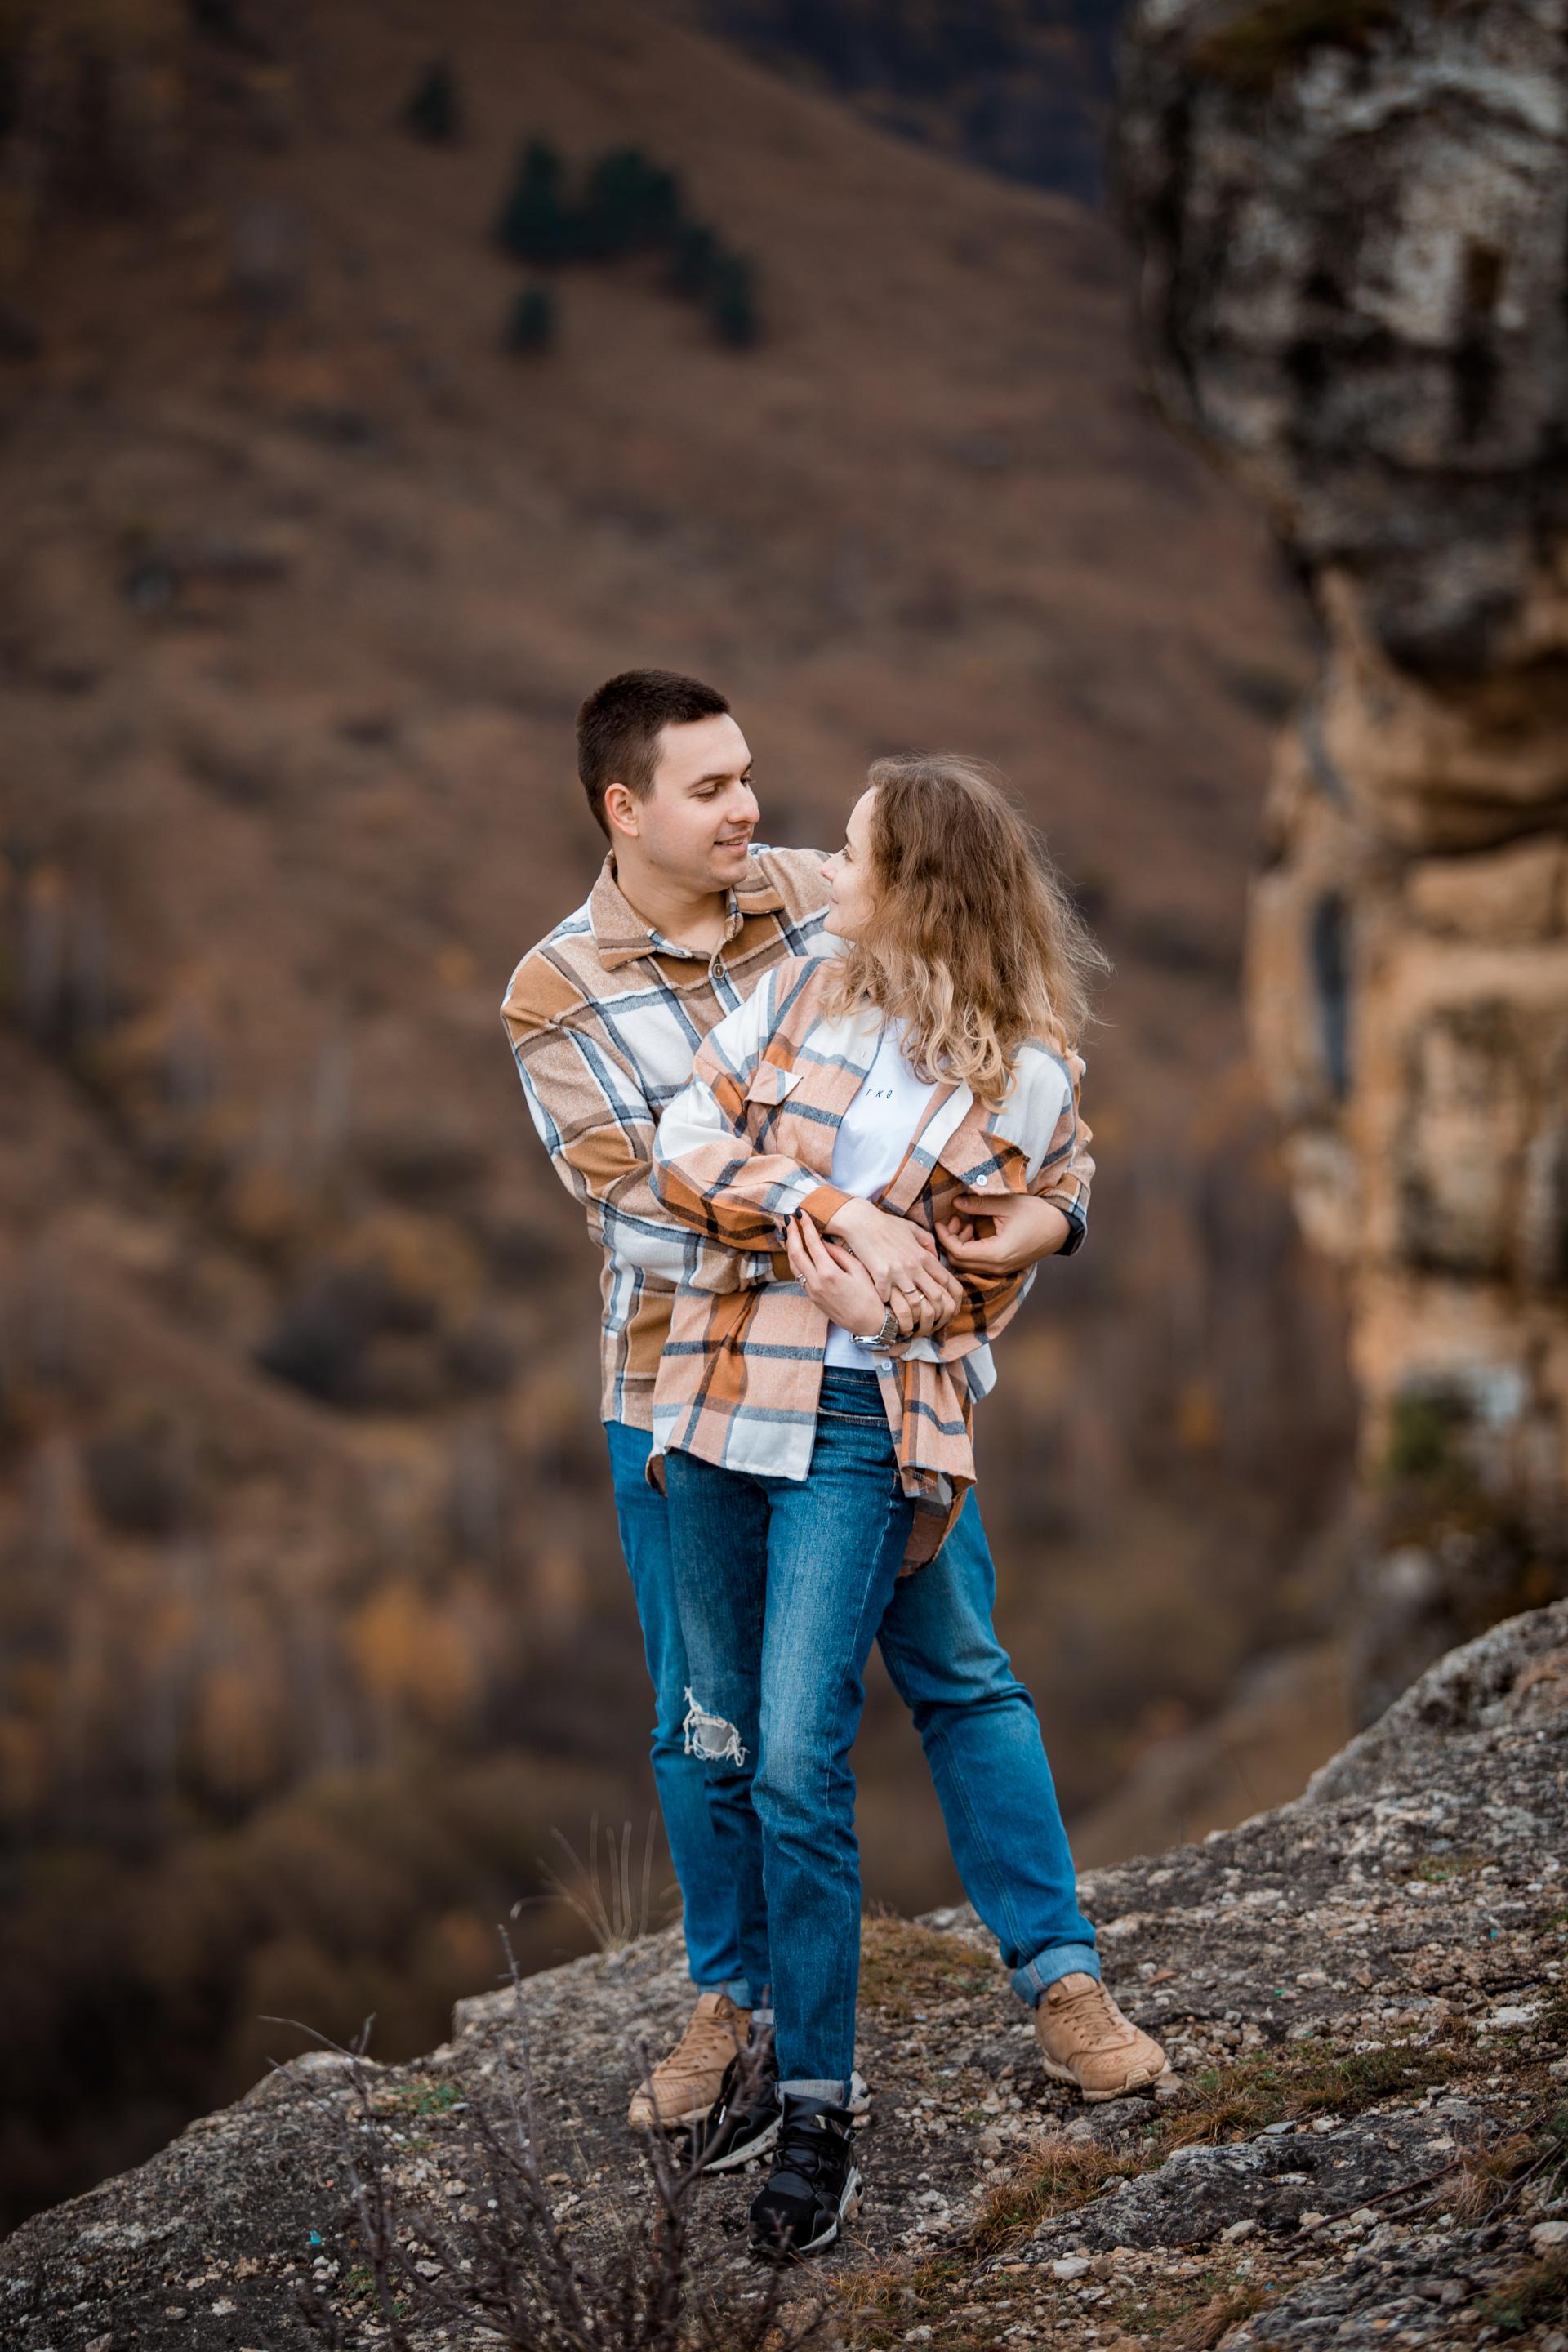
[[[879,760],[825,880],[844,950],[778,964],[712,1030],[654,1167],[675,1218],[748,1254],[741,1289],[677,1296],[654,1463],[686,1733],[715,1771],[748,1976],[773,1985],[783,2122],[752,2204],[769,2253],[832,2244],[858,2197],[860,1677],[893,1581],[973,1482],[990,1338],[1032,1279],[957,1279],[938,1240],[961,1190],[1074,1197],[1070,1040],[1098,960],[1027,826],[961,760]]]

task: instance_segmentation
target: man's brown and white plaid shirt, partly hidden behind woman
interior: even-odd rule
[[[731,891],[724,943],[703,955],[658,938],[628,906],[604,858],[588,901],[512,971],[501,1021],[555,1174],[588,1211],[604,1251],[604,1421],[654,1425],[654,1374],[682,1282],[738,1289],[769,1282],[773,1258],[703,1244],[654,1200],[654,1129],[691,1080],[703,1037],[785,957],[835,950],[823,934],[827,884],[816,849],[755,849]],[[1084,1138],[1088,1129],[1084,1129]],[[1093,1162],[1072,1162],[1063,1256],[1086,1228]]]

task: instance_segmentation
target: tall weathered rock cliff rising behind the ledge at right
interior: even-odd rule
[[[1563,1576],[1566,33],[1561,0],[1145,0],[1124,54],[1159,395],[1324,623],[1248,1000],[1363,1465],[1439,1503],[1378,1531],[1373,1693]]]

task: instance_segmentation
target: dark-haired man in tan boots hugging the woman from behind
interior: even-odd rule
[[[658,1700],[654,1778],[698,1987],[686,2032],[637,2089],[630,2122],[672,2129],[710,2117],[764,1987],[741,1973],[703,1766],[684,1740],[689,1677],[665,1503],[644,1475],[654,1374],[682,1279],[766,1282],[780,1277],[780,1261],[759,1254],[736,1265],[736,1254],[668,1223],[649,1162],[658,1115],[691,1077],[708,1030],[783,957],[827,953],[827,887],[818,854],[752,847],[750,748],[724,696],[693,677],[628,670],[590,694],[578,713],[578,776],[609,856],[585,906],[517,964],[501,1018],[534,1124],[604,1251],[602,1418]],[[1079,1124],[1053,1197],[961,1195],[976,1223],[945,1228],[947,1258],[994,1272],[1077,1249],[1093,1176],[1086,1143]],[[924,1303],[898,1308],[905,1331],[929,1317],[947,1282],[933,1256]],[[914,1717],[959,1877],[1034,2011],[1046,2072],[1091,2100],[1119,2098],[1154,2082],[1164,2051],[1100,1985],[1039,1724],[997,1642],[992,1606],[994,1569],[971,1494],[940,1555],[898,1585],[882,1656]],[[764,2091],[710,2124],[715,2166],[766,2145],[766,2107]]]

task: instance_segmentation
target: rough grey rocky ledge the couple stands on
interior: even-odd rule
[[[1107,1976],[1171,2049],[1154,2098],[1088,2110],[1046,2084],[969,1912],[867,1922],[867,2199],[804,2281],[830,2298],[818,2340],[1568,2352],[1563,1856],[1556,1604],[1443,1658],[1295,1804],[1086,1879]],[[693,2201],[684,2319],[625,2303],[569,2336],[508,2333],[494,2293],[475,2312],[498,2234],[522,2241],[494,2119],[524,2044],[531,2244],[559,2230],[614,2267],[651,2194],[628,2086],[686,2002],[654,1936],[463,2002],[451,2042],[357,2089],[343,2058],[296,2058],[9,2237],[0,2343],[284,2352],[388,2343],[388,2321],[418,2345],[759,2343],[745,2173]],[[376,2199],[407,2249],[386,2307]]]

